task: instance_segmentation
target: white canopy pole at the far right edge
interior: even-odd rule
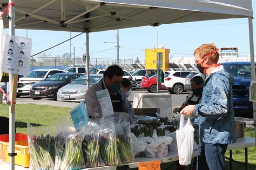
[[[253,44],[253,28],[252,28],[252,17],[248,17],[248,25],[249,25],[249,37],[250,37],[250,55],[251,55],[251,74],[252,80],[255,80],[255,64],[254,64],[254,44]],[[254,124],[256,123],[256,103],[252,103],[253,106],[253,119]],[[254,126],[254,134],[255,134],[255,143],[256,143],[256,126]]]

